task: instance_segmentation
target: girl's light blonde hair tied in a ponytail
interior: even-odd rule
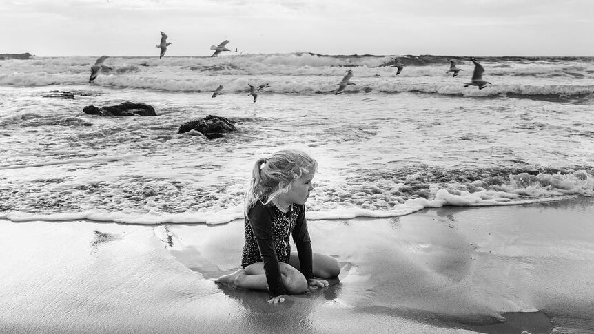
[[[283,149],[268,158],[259,158],[245,191],[245,214],[256,202],[268,204],[291,190],[291,182],[303,174],[314,173],[318,163],[298,149]]]

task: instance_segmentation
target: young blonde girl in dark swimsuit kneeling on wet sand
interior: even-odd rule
[[[305,202],[318,163],[305,152],[283,150],[256,161],[245,193],[245,244],[241,267],[216,282],[244,289],[269,290],[269,303],[308,286],[328,286],[340,273],[338,261],[312,253]],[[289,236],[297,252],[291,253]]]

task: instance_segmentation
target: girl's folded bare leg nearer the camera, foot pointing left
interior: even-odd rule
[[[307,280],[302,273],[289,264],[280,262],[280,277],[289,294],[303,293],[307,290]],[[221,282],[242,289],[268,290],[263,262],[256,262],[229,275],[221,276],[215,282]]]

